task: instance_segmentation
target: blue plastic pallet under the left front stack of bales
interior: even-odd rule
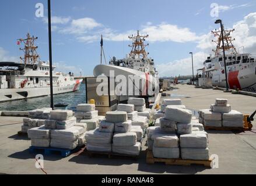
[[[61,156],[67,157],[67,156],[71,155],[71,153],[76,152],[81,148],[82,147],[77,147],[73,150],[70,150],[70,149],[59,149],[59,148],[50,148],[50,147],[49,148],[44,148],[44,147],[30,146],[29,152],[30,153],[36,153],[38,151],[43,151],[44,155],[51,155],[54,152],[60,152]]]

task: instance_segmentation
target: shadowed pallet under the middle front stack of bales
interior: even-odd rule
[[[107,158],[129,158],[129,159],[138,159],[139,156],[137,155],[125,155],[121,153],[114,153],[114,152],[96,152],[96,151],[87,151],[85,153],[90,157],[93,158],[95,156],[107,156]]]

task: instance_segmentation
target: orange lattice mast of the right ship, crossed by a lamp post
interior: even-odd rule
[[[236,51],[236,47],[234,47],[232,41],[235,40],[235,38],[232,38],[230,36],[230,33],[233,33],[234,29],[232,30],[225,30],[223,29],[223,39],[224,39],[224,49],[225,51],[229,51],[230,49],[232,49],[232,52],[237,53]],[[212,40],[212,42],[215,42],[217,44],[216,49],[212,50],[213,52],[215,52],[215,55],[220,55],[222,53],[223,47],[221,46],[222,44],[222,34],[221,31],[216,30],[212,31],[212,34],[214,35],[214,37],[218,37],[218,39],[216,41]]]

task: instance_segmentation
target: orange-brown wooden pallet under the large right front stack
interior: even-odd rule
[[[146,163],[154,164],[155,162],[163,162],[171,165],[191,166],[192,164],[200,164],[205,167],[211,167],[212,160],[187,160],[187,159],[166,159],[166,158],[154,158],[153,152],[149,151],[146,155]]]

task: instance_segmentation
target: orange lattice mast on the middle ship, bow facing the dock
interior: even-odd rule
[[[149,35],[139,35],[139,30],[136,36],[129,36],[129,39],[132,40],[132,45],[129,45],[129,47],[132,47],[132,50],[129,53],[129,58],[143,59],[148,56],[148,53],[145,51],[145,47],[149,44],[144,44],[144,41],[146,41],[145,38],[148,37]]]

